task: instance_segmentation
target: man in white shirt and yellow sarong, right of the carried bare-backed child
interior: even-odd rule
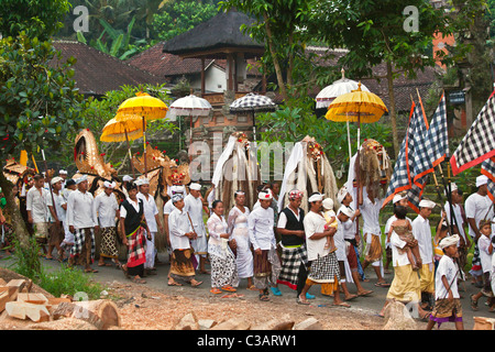
[[[421,255],[422,262],[419,270],[421,300],[430,307],[433,306],[435,301],[435,264],[431,228],[428,218],[435,207],[436,204],[433,201],[422,199],[419,202],[419,215],[413,221],[413,235],[418,241],[419,254]]]

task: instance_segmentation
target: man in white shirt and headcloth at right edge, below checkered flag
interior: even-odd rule
[[[474,255],[472,260],[472,267],[470,274],[474,278],[476,287],[483,287],[483,271],[480,262],[480,249],[477,240],[481,237],[479,229],[480,221],[485,219],[493,219],[493,201],[488,197],[487,189],[488,177],[481,175],[476,177],[477,191],[468,197],[464,204],[465,217],[469,223],[469,234],[474,241]]]

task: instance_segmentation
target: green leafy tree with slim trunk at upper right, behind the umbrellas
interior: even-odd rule
[[[413,12],[405,11],[406,8]],[[394,78],[398,75],[415,78],[418,69],[436,65],[433,56],[426,53],[437,32],[450,33],[444,12],[436,10],[427,0],[338,0],[318,2],[311,13],[308,31],[330,47],[349,50],[339,59],[339,66],[346,67],[353,77],[371,77],[374,66],[386,64],[386,74],[375,78],[386,79],[388,85],[388,110],[397,155]]]

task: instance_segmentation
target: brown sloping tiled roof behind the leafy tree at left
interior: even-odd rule
[[[89,45],[79,42],[55,41],[54,47],[62,53],[62,61],[70,56],[77,59],[73,66],[74,80],[81,94],[105,95],[124,85],[163,84],[164,80],[135,66],[129,65],[117,57],[105,54]],[[57,61],[51,62],[52,66]]]

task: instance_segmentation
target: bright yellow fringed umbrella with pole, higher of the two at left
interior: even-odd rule
[[[144,174],[147,174],[146,167],[146,121],[160,120],[165,118],[168,107],[160,100],[145,92],[138,92],[135,97],[127,99],[117,110],[117,121],[139,120],[143,127],[144,145]]]

